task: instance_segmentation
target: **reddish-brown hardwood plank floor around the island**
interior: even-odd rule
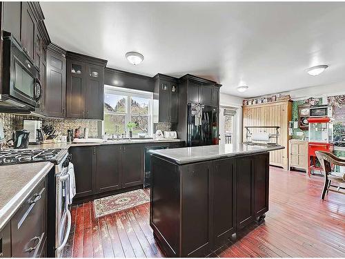
[[[209,257],[345,257],[345,195],[320,200],[323,178],[270,167],[266,219]],[[65,257],[162,257],[149,204],[95,219],[92,202],[72,208]]]

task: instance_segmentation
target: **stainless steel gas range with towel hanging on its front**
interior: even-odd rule
[[[72,157],[67,149],[7,149],[0,151],[0,166],[7,164],[21,164],[32,162],[52,162],[55,164],[55,177],[48,185],[48,193],[52,193],[52,200],[48,199],[48,256],[61,257],[63,247],[66,245],[70,233],[71,215],[69,206],[72,203],[75,189],[74,168]],[[50,189],[50,190],[49,190]],[[49,211],[55,210],[55,213]],[[55,216],[55,222],[50,221]],[[50,224],[50,226],[49,226]],[[50,244],[49,244],[50,243]],[[51,253],[51,254],[49,254]]]

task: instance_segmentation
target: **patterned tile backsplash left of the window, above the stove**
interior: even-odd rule
[[[43,126],[51,125],[59,135],[67,135],[68,129],[75,129],[79,126],[89,128],[89,137],[98,137],[98,121],[92,119],[57,119],[48,117],[36,117],[34,115],[17,115],[12,113],[0,113],[0,119],[3,122],[3,131],[5,139],[9,140],[12,133],[23,129],[23,119],[37,119],[43,122]]]

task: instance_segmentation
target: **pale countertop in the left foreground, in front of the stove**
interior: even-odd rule
[[[53,166],[50,162],[0,166],[0,229]]]

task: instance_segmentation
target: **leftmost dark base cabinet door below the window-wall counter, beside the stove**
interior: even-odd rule
[[[75,199],[94,194],[96,146],[72,147],[70,153],[75,167]]]

